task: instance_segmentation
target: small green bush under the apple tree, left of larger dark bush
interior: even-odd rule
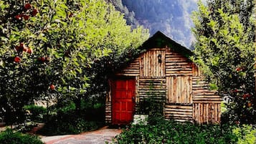
[[[30,120],[34,122],[43,122],[44,115],[47,113],[47,109],[37,105],[25,105],[23,109],[30,114]]]

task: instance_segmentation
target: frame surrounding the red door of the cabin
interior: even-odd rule
[[[110,91],[111,91],[111,123],[113,125],[117,125],[116,123],[113,123],[113,102],[115,100],[113,100],[113,85],[114,85],[114,81],[115,80],[134,80],[134,96],[132,98],[132,102],[133,102],[133,112],[132,112],[132,115],[134,116],[134,114],[136,113],[136,77],[130,77],[130,76],[115,76],[115,77],[112,77],[111,79],[111,83],[110,83]],[[133,119],[133,118],[132,118]],[[120,123],[120,124],[129,124],[129,123]],[[118,124],[119,125],[119,124]]]

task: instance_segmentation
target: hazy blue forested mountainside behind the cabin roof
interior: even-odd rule
[[[196,0],[107,0],[121,11],[127,23],[138,24],[150,30],[151,35],[161,31],[176,42],[191,47],[191,11],[197,9]]]

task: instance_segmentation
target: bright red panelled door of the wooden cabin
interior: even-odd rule
[[[135,80],[114,80],[112,85],[112,123],[129,124],[133,120]]]

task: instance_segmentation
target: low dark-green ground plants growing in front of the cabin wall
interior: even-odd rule
[[[156,125],[131,125],[114,143],[236,143],[229,126],[194,125],[158,120]]]

